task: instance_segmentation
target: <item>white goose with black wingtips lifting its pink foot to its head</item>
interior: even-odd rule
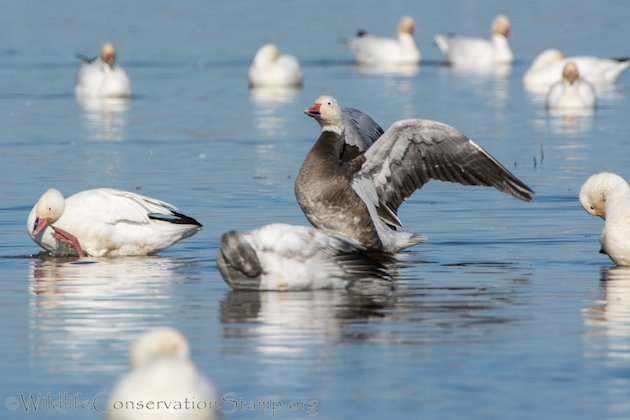
[[[151,255],[201,230],[164,201],[98,188],[64,199],[46,191],[28,216],[28,233],[55,256]]]

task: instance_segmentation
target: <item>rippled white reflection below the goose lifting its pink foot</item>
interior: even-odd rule
[[[112,354],[125,353],[137,332],[170,321],[178,310],[173,289],[181,264],[164,257],[31,261],[32,359],[81,376],[120,369]]]

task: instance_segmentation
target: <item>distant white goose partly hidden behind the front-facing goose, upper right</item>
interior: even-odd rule
[[[589,82],[600,84],[615,83],[621,72],[628,66],[628,59],[612,60],[591,56],[565,57],[557,49],[547,49],[540,53],[523,76],[525,87],[543,88],[561,80],[562,69],[567,63],[574,63],[581,77]]]

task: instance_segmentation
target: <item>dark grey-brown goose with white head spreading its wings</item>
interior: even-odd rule
[[[295,182],[306,218],[317,228],[347,235],[369,249],[398,252],[424,238],[395,230],[398,207],[431,179],[485,185],[521,200],[534,192],[476,143],[430,120],[394,123],[365,153],[346,161],[341,108],[320,96],[304,111],[321,126]]]

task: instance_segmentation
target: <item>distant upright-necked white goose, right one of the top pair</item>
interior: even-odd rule
[[[434,41],[447,64],[487,67],[509,64],[514,60],[507,40],[510,35],[510,20],[504,15],[498,15],[492,21],[492,37],[489,40],[461,35],[436,35]]]

